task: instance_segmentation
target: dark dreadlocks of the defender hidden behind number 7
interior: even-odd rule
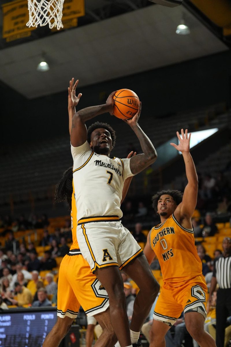
[[[72,187],[73,169],[70,167],[63,173],[63,177],[55,186],[54,203],[66,201],[71,211],[71,197],[73,193]]]

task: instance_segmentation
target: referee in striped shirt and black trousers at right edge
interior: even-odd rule
[[[214,260],[213,277],[210,287],[209,302],[219,284],[216,299],[216,346],[224,347],[226,319],[231,316],[231,238],[222,242],[223,253]]]

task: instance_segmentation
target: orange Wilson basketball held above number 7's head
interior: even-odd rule
[[[114,115],[120,119],[131,119],[139,109],[140,100],[130,89],[120,89],[113,96]]]

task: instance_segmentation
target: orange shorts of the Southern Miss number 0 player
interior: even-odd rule
[[[207,291],[202,275],[185,281],[179,287],[165,282],[154,308],[153,319],[173,325],[183,311],[196,311],[206,318]]]

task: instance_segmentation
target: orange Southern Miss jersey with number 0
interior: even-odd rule
[[[152,228],[150,246],[159,260],[163,281],[169,285],[178,287],[184,281],[202,275],[193,230],[182,227],[174,214]]]

